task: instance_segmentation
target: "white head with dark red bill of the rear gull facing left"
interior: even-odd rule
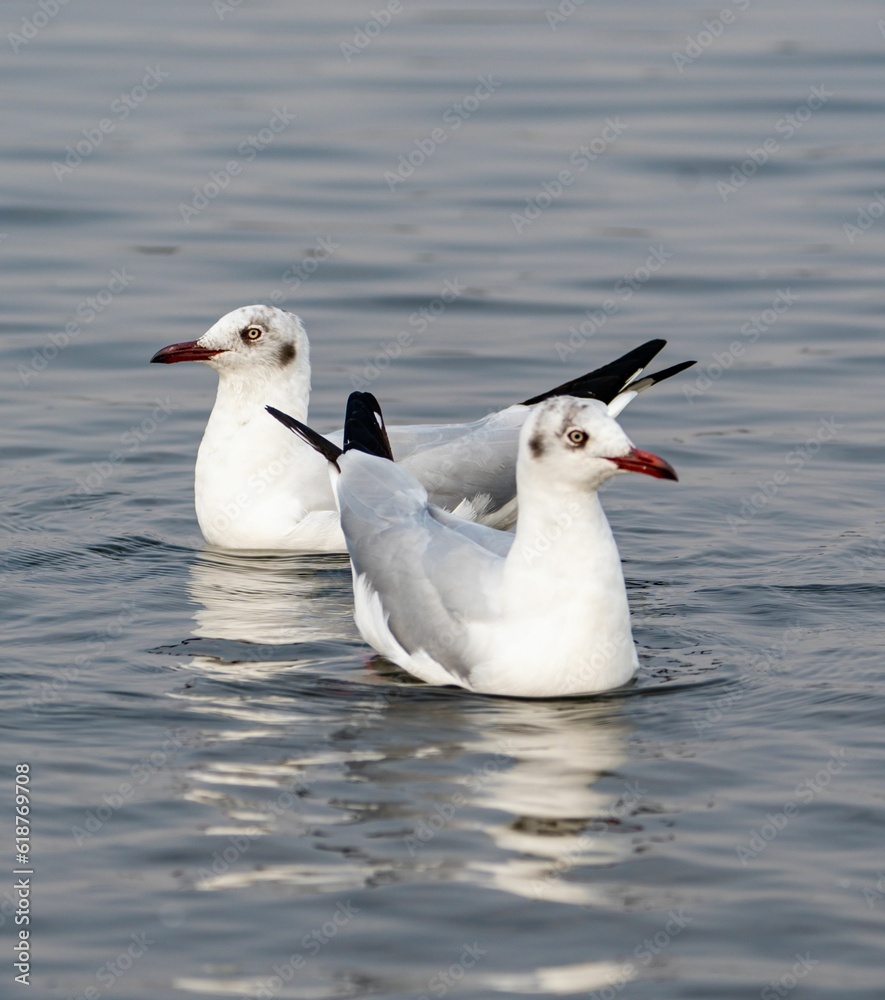
[[[151,361],[205,361],[221,378],[237,376],[254,382],[296,374],[310,377],[310,348],[301,320],[274,306],[234,309],[199,340],[170,344]]]

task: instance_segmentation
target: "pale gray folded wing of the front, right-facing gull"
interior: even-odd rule
[[[414,477],[385,459],[348,452],[341,467],[336,488],[354,578],[364,578],[384,619],[374,634],[386,626],[407,654],[423,651],[466,678],[467,627],[495,614],[513,536],[434,508]]]

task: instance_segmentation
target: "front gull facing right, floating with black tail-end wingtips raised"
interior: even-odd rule
[[[432,503],[392,460],[371,393],[351,394],[343,448],[267,409],[328,463],[354,618],[382,656],[428,684],[520,698],[595,694],[634,675],[621,560],[597,491],[620,471],[676,473],[634,447],[605,403],[556,396],[532,408],[515,532]]]

